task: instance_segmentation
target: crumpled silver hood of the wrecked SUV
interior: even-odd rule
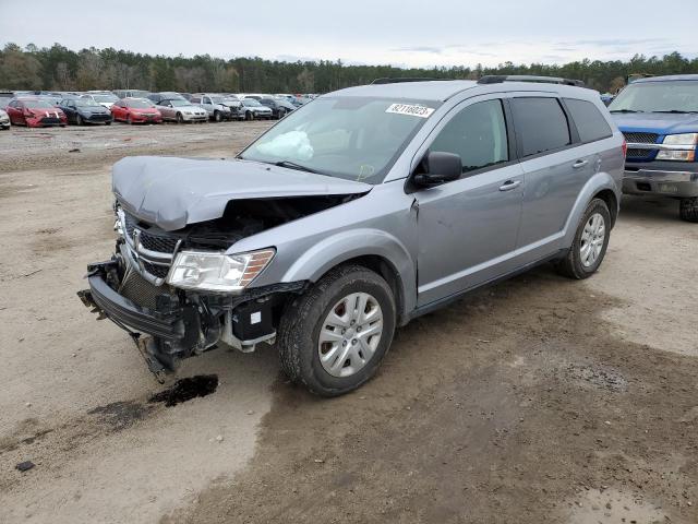
[[[112,169],[119,203],[141,221],[172,231],[222,216],[243,199],[357,194],[371,186],[249,160],[130,156]]]

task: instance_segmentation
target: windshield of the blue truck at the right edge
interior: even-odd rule
[[[611,103],[609,110],[628,112],[698,111],[698,81],[637,82]]]

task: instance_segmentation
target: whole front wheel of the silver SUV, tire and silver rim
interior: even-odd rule
[[[365,297],[365,308],[371,309],[370,317],[350,321],[351,310],[345,305],[349,303],[349,298],[351,301],[356,299],[357,305],[361,303],[361,297]],[[341,318],[347,320],[341,320],[338,308],[345,308]],[[346,327],[341,333],[333,332],[332,340],[336,342],[321,343],[321,332],[327,332],[324,327],[330,325],[327,321],[333,310]],[[356,314],[362,319],[366,310]],[[382,324],[378,325],[380,321]],[[316,395],[348,393],[375,374],[393,342],[395,323],[393,291],[381,276],[360,265],[336,267],[287,305],[278,331],[281,369],[291,381],[303,384]],[[364,327],[363,333],[359,333],[361,326]],[[382,331],[375,333],[380,327]],[[366,336],[369,332],[373,334]],[[321,353],[327,357],[325,364],[321,361]],[[333,355],[337,358],[333,359]],[[327,367],[333,367],[333,364],[334,372],[330,374]]]

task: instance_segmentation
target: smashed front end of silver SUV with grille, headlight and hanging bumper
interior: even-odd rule
[[[129,332],[160,382],[179,360],[218,343],[243,352],[261,342],[274,343],[284,303],[302,293],[306,283],[248,288],[274,251],[225,254],[237,240],[263,230],[268,223],[224,214],[216,221],[166,231],[140,222],[121,206],[115,211],[116,252],[107,262],[88,265],[89,288],[77,295],[99,319],[107,318]],[[229,265],[192,267],[188,257],[216,263],[226,260]],[[228,282],[222,277],[233,275],[238,285],[216,288],[215,283],[206,283],[213,289],[197,288],[198,282],[208,278],[206,271],[217,272],[216,282]]]

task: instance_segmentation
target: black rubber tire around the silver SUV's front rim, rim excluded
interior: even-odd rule
[[[368,293],[375,298],[383,313],[383,332],[373,356],[362,368],[349,377],[334,377],[320,361],[320,331],[330,308],[351,293]],[[286,307],[278,331],[281,369],[291,381],[316,395],[348,393],[375,374],[393,342],[395,323],[393,291],[381,276],[360,265],[336,267]]]

